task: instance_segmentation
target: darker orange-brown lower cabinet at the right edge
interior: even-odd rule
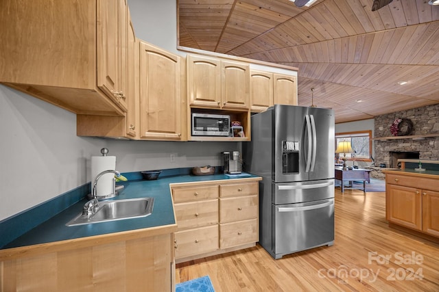
[[[439,178],[386,172],[385,204],[391,224],[439,237]]]

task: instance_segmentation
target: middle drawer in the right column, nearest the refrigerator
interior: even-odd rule
[[[219,222],[233,222],[258,217],[258,196],[219,199]]]

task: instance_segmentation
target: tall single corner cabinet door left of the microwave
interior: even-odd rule
[[[180,56],[140,43],[141,137],[181,140]]]

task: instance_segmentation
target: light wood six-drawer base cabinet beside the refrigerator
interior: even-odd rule
[[[176,263],[254,246],[259,241],[258,181],[171,185]]]

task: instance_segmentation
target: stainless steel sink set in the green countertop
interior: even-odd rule
[[[82,215],[81,213],[66,225],[77,226],[82,224],[146,217],[147,215],[151,215],[153,206],[154,198],[134,198],[99,202],[99,207],[97,207],[93,214]]]

